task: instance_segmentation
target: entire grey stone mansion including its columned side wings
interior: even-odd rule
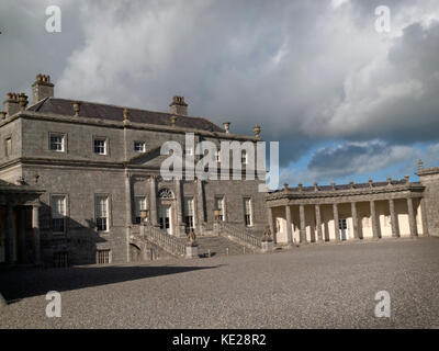
[[[165,141],[260,140],[188,115],[58,99],[38,75],[32,104],[8,93],[0,121],[0,263],[68,265],[184,257],[188,237],[211,252],[309,242],[439,236],[439,168],[419,182],[290,188],[260,181],[160,177]],[[184,148],[184,157],[194,150]],[[195,158],[198,156],[194,156]],[[249,155],[241,150],[243,170]],[[219,162],[221,159],[218,158]],[[230,169],[230,172],[235,171]],[[268,230],[269,228],[269,230]],[[248,252],[247,251],[247,252]]]

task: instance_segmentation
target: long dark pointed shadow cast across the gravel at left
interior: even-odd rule
[[[49,270],[11,270],[0,272],[0,294],[8,304],[21,298],[45,295],[145,278],[215,269],[214,267],[74,267]]]

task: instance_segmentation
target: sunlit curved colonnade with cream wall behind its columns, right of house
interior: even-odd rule
[[[404,180],[289,188],[267,196],[277,245],[427,235],[425,186]]]

